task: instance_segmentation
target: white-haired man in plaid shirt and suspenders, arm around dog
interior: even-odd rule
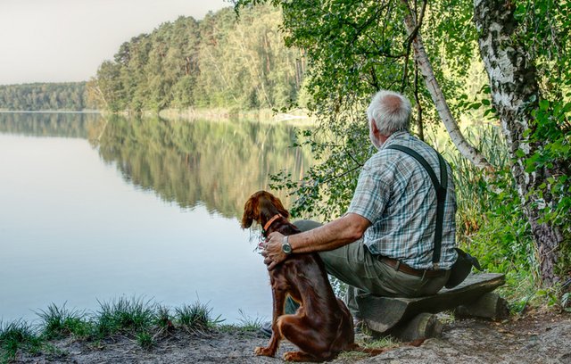
[[[448,170],[440,258],[433,261],[437,197],[428,172],[412,156],[420,154],[440,176],[438,154],[410,135],[410,101],[380,91],[368,107],[369,136],[378,149],[363,166],[349,210],[343,217],[294,236],[273,233],[264,262],[273,269],[289,254],[319,252],[327,272],[350,285],[346,303],[360,322],[356,294],[415,297],[438,292],[457,259],[456,196]],[[442,181],[441,181],[442,182]],[[302,230],[307,229],[300,223]]]

